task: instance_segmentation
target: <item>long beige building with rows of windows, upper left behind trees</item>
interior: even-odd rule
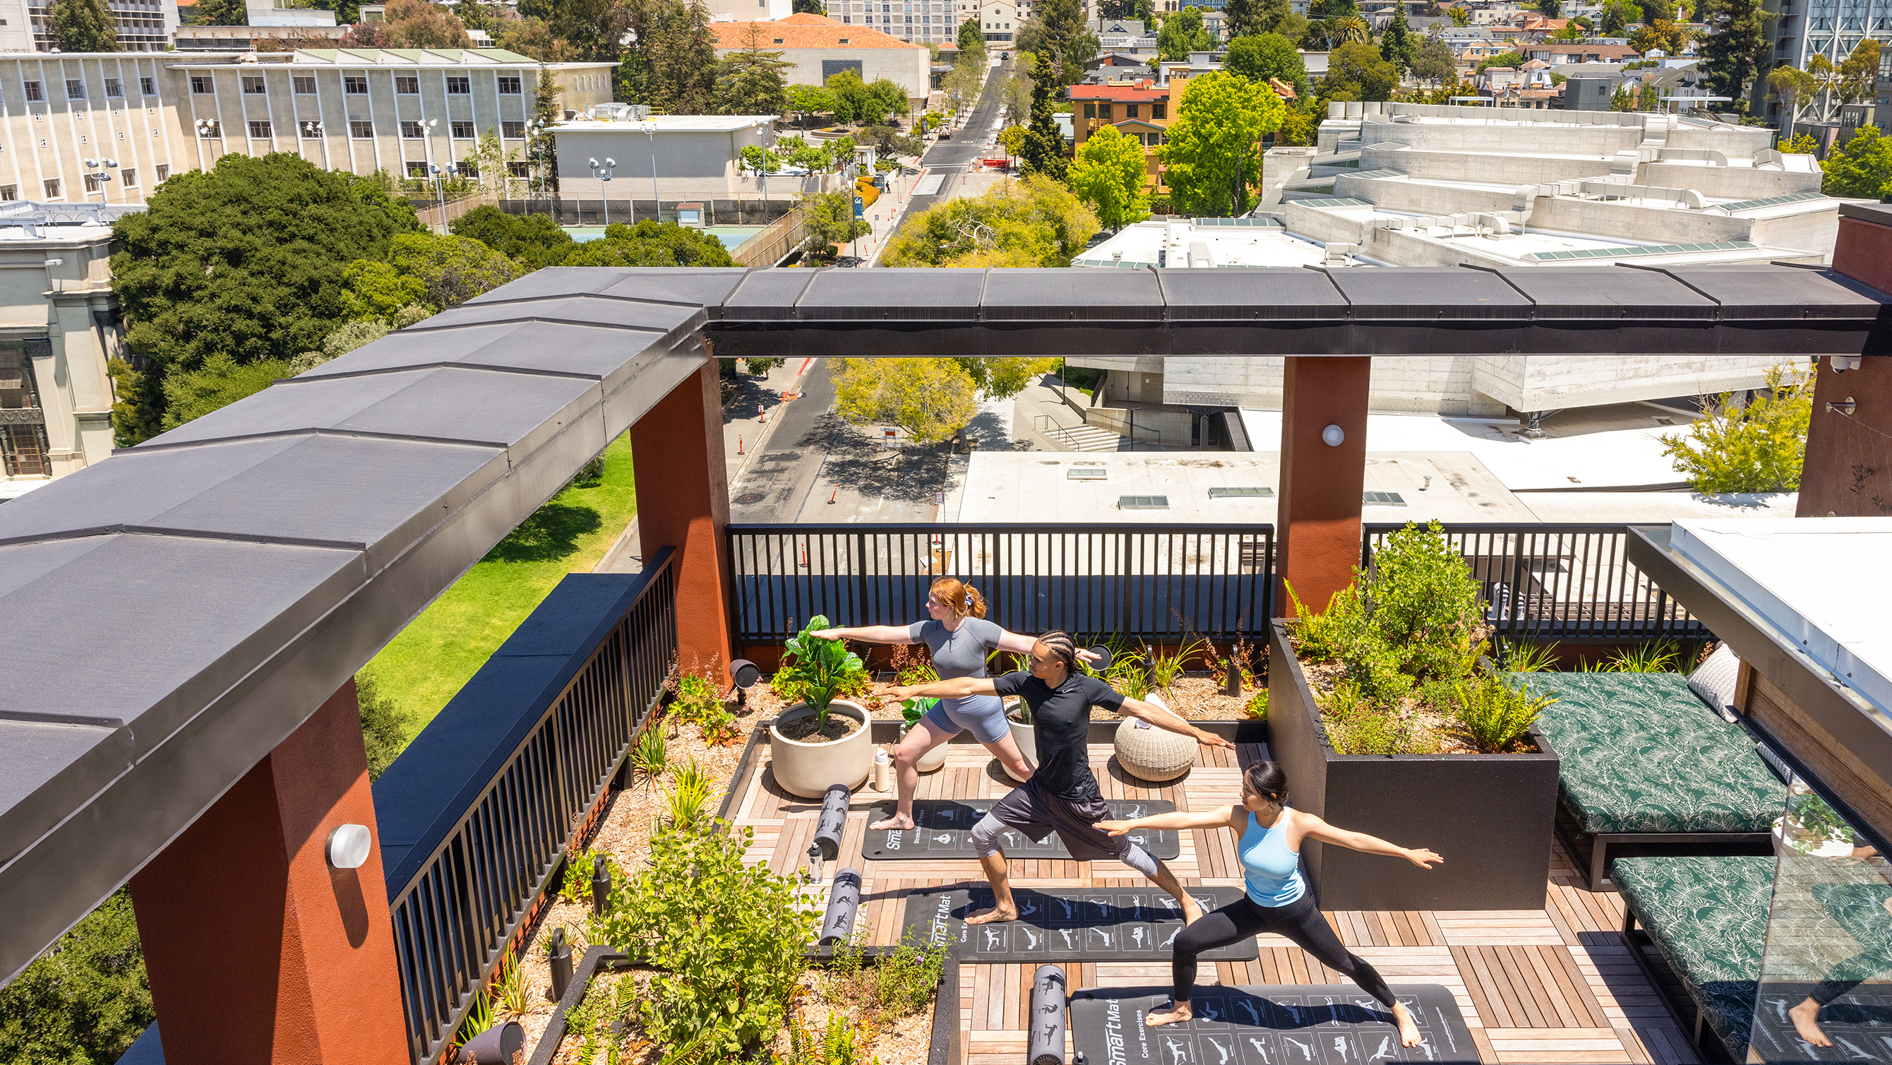
[[[539,66],[499,49],[0,55],[0,201],[144,202],[231,151],[450,170],[488,129],[522,155]],[[609,62],[551,70],[562,108],[611,98]]]

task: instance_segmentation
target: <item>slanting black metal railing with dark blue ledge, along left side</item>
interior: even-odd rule
[[[662,698],[672,562],[566,577],[375,781],[416,1065],[452,1042]]]

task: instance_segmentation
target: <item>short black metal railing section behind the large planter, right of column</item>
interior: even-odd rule
[[[1362,528],[1360,564],[1396,524]],[[1506,639],[1705,639],[1708,630],[1629,564],[1629,530],[1610,524],[1444,526],[1485,588]]]

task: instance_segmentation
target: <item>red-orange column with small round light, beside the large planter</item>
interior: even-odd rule
[[[1292,617],[1285,583],[1309,609],[1353,581],[1360,564],[1360,488],[1366,484],[1366,401],[1374,359],[1296,356],[1281,390],[1281,507],[1275,535],[1275,617]],[[1328,426],[1340,445],[1323,439]]]

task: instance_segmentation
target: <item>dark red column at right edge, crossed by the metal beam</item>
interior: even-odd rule
[[[1841,218],[1833,269],[1881,291],[1892,291],[1892,208],[1867,208],[1884,225]],[[1866,212],[1862,212],[1866,214]],[[1828,403],[1854,403],[1852,412]],[[1833,373],[1822,358],[1807,426],[1807,463],[1799,475],[1801,518],[1892,515],[1892,358],[1866,356],[1858,369]]]

